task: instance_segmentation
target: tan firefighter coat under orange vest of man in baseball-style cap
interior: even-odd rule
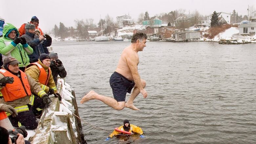
[[[0,73],[0,79],[5,77],[2,73]],[[42,88],[40,87],[40,85],[38,85],[37,82],[35,82],[35,80],[30,77],[28,74],[27,74],[27,78],[28,78],[28,81],[29,81],[29,85],[30,85],[30,90],[32,93],[38,95],[38,96],[42,96],[44,94],[46,94]],[[0,86],[0,90],[2,89],[3,87]],[[4,98],[2,98],[2,96],[0,96],[0,103],[5,103],[7,105],[10,105],[12,106],[13,108],[15,107],[20,107],[20,106],[24,106],[24,105],[27,105],[30,103],[30,96],[25,96],[23,98],[19,98],[19,99],[16,99],[16,100],[13,100],[13,101],[9,101],[9,102],[5,102]]]

